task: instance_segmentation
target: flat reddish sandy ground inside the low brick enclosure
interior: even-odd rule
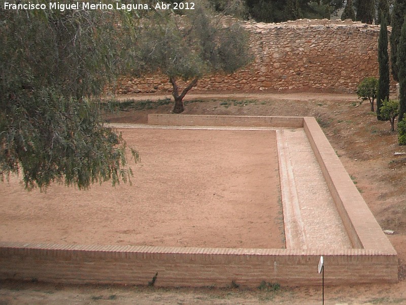
[[[0,240],[283,248],[274,131],[120,130],[139,150],[132,185],[27,192],[0,184]]]

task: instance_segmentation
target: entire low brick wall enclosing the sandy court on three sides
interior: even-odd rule
[[[354,249],[215,249],[0,242],[0,280],[256,287],[396,282],[398,258],[314,118],[150,115],[150,124],[304,128]],[[176,122],[174,122],[174,120]]]

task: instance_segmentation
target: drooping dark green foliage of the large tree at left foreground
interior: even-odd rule
[[[0,10],[2,180],[16,173],[27,189],[53,181],[82,189],[129,179],[125,142],[103,126],[95,99],[129,64],[117,18],[100,10]]]

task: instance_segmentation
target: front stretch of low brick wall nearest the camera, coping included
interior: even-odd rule
[[[397,257],[368,250],[296,251],[125,246],[61,246],[0,242],[0,279],[60,283],[224,287],[232,281],[289,286],[395,282]]]

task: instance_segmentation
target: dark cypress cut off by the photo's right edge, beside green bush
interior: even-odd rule
[[[406,16],[403,21],[402,31],[397,47],[397,68],[399,76],[399,116],[400,122],[406,113]]]

